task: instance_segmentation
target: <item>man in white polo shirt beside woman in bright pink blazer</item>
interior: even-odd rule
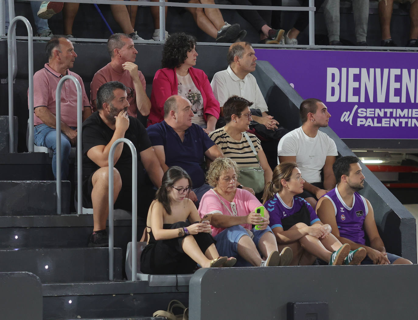
[[[252,119],[264,124],[267,129],[277,129],[278,121],[267,114],[268,107],[263,94],[257,85],[255,77],[250,73],[255,71],[257,57],[249,42],[233,43],[228,51],[228,69],[217,72],[212,79],[211,86],[215,98],[221,106],[233,95],[243,97],[254,102],[253,108],[260,109],[263,116],[257,117],[252,114]]]

